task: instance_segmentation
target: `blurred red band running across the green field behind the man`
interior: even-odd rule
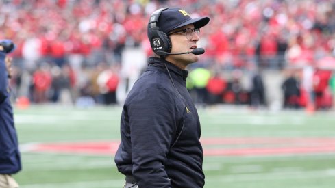
[[[21,144],[21,152],[71,155],[115,155],[119,140]],[[205,156],[282,156],[335,153],[334,137],[229,137],[203,138]]]

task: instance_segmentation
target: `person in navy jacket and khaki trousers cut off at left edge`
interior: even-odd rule
[[[21,170],[18,139],[14,127],[13,110],[10,103],[12,58],[6,54],[14,51],[15,45],[10,40],[0,40],[0,187],[14,188],[18,184],[12,174]]]

